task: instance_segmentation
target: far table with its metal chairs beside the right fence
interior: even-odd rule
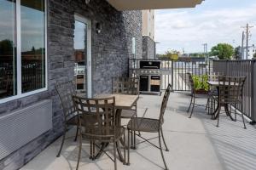
[[[236,122],[236,115],[238,112],[241,114],[243,127],[246,128],[244,115],[243,115],[243,89],[246,82],[246,77],[226,77],[221,73],[212,73],[207,75],[207,94],[201,95],[196,92],[195,80],[191,73],[188,73],[189,85],[191,89],[191,100],[189,109],[189,118],[191,118],[195,106],[205,106],[208,115],[212,116],[213,120],[217,121],[219,125],[219,117],[222,112],[229,116],[232,121]],[[204,98],[207,95],[207,105],[195,104],[196,98]],[[224,108],[224,111],[222,110]],[[232,116],[234,113],[235,118]]]

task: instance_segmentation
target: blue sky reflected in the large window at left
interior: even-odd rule
[[[22,5],[20,15],[21,51],[44,47],[44,12]],[[0,20],[0,41],[15,42],[15,3],[0,0]]]

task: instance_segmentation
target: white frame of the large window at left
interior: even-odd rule
[[[40,89],[36,89],[36,90],[33,90],[31,92],[27,92],[27,93],[24,93],[22,94],[22,89],[21,89],[21,84],[22,84],[22,81],[21,81],[21,23],[20,23],[20,19],[21,19],[21,16],[20,16],[20,0],[16,0],[16,27],[15,27],[15,38],[16,38],[16,64],[17,64],[17,69],[16,69],[16,74],[17,74],[17,78],[16,78],[16,85],[17,85],[17,94],[15,94],[14,96],[10,96],[10,97],[7,97],[7,98],[3,98],[3,99],[0,99],[0,104],[3,104],[3,103],[6,103],[6,102],[9,102],[11,100],[15,100],[15,99],[20,99],[20,98],[24,98],[24,97],[27,97],[27,96],[30,96],[32,94],[39,94],[39,93],[42,93],[42,92],[45,92],[48,90],[48,46],[47,46],[47,28],[48,28],[48,6],[47,6],[47,0],[44,0],[44,48],[45,48],[45,51],[44,51],[44,65],[45,65],[45,75],[44,75],[44,78],[45,78],[45,88],[40,88]]]

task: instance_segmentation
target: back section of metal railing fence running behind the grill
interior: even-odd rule
[[[129,59],[129,70],[139,69],[139,62],[145,59]],[[150,59],[152,60],[152,59]],[[204,59],[164,59],[161,61],[161,89],[166,89],[171,83],[175,91],[189,91],[187,73],[194,75],[208,74],[212,67]]]

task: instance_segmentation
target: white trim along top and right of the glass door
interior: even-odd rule
[[[87,25],[87,42],[86,42],[86,49],[87,49],[87,63],[86,63],[86,74],[87,74],[87,97],[92,97],[92,78],[91,78],[91,20],[86,19],[85,17],[75,14],[74,19],[80,22],[83,22]]]

